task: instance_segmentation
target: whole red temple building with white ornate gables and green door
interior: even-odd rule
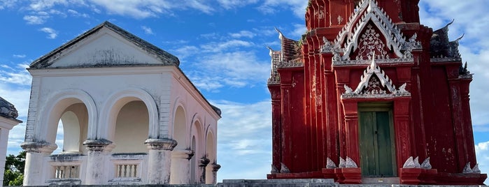
[[[418,11],[418,0],[311,0],[302,39],[277,30],[269,179],[483,184],[460,38]]]

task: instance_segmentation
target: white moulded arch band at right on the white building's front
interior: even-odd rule
[[[141,100],[148,109],[148,137],[159,137],[160,127],[158,126],[158,110],[155,100],[143,89],[132,88],[113,93],[108,98],[101,110],[101,118],[99,119],[100,124],[104,125],[97,128],[94,138],[113,140],[118,112],[124,105],[134,100]]]

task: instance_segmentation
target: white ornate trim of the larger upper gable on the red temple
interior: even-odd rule
[[[348,23],[341,29],[338,36],[336,36],[336,40],[334,40],[333,53],[335,53],[335,57],[333,58],[333,61],[350,61],[350,53],[357,50],[357,41],[360,36],[362,36],[364,27],[370,26],[370,24],[368,24],[370,21],[374,23],[376,28],[378,28],[385,37],[385,47],[392,48],[398,58],[412,59],[412,50],[420,50],[423,48],[421,43],[416,40],[416,33],[411,36],[409,40],[406,40],[401,30],[392,23],[392,20],[389,15],[385,13],[385,10],[378,7],[377,1],[362,0],[356,9],[357,11],[350,15]],[[343,44],[343,41],[345,40],[346,43]],[[341,52],[343,53],[342,55],[336,54]]]

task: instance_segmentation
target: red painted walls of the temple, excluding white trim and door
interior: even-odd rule
[[[396,87],[406,83],[410,96],[341,98],[344,85],[355,89],[367,66],[338,66],[331,53],[322,53],[323,37],[334,41],[355,11],[353,0],[310,1],[308,33],[302,43],[302,66],[277,68],[278,84],[269,84],[272,99],[273,165],[291,173],[269,179],[334,178],[360,183],[360,168],[325,169],[326,158],[352,158],[360,167],[358,103],[391,103],[395,130],[397,177],[403,184],[482,184],[486,174],[462,174],[466,163],[476,164],[469,108],[472,77],[459,76],[461,61],[430,61],[432,29],[419,23],[418,1],[378,0],[378,6],[410,38],[414,33],[423,50],[413,61],[379,63]],[[343,20],[338,17],[343,17]],[[375,29],[380,33],[379,29]],[[362,31],[364,32],[364,30]],[[384,37],[384,36],[382,36]],[[381,38],[382,38],[381,37]],[[382,38],[385,42],[385,37]],[[290,42],[290,41],[287,41]],[[292,59],[291,45],[282,54]],[[389,49],[387,49],[389,50]],[[358,52],[352,52],[351,57]],[[395,54],[389,54],[395,58]],[[430,157],[432,170],[403,169],[410,156]]]

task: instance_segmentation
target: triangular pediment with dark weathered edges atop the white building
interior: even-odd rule
[[[178,58],[104,22],[31,63],[30,68],[178,66]]]

